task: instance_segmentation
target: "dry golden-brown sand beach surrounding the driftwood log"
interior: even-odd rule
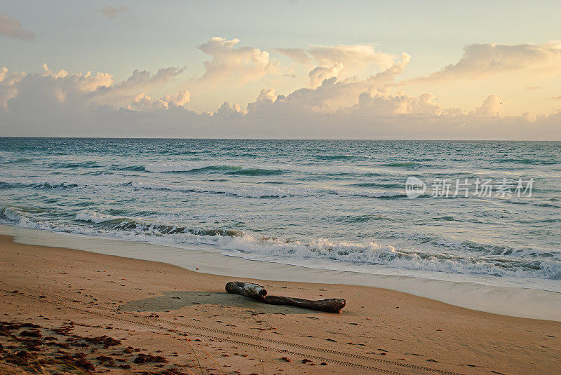
[[[561,369],[561,322],[374,287],[238,279],[259,282],[269,294],[347,301],[342,314],[318,313],[230,295],[224,285],[232,278],[154,261],[22,245],[8,236],[0,236],[0,253],[0,374]]]

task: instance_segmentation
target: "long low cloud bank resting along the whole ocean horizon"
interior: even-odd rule
[[[149,86],[161,90],[180,69],[134,71],[120,83],[107,73],[69,74],[45,67],[41,74],[26,75],[0,69],[0,92],[15,90],[6,108],[0,108],[0,135],[559,139],[561,113],[534,120],[498,117],[501,100],[489,95],[480,107],[462,114],[436,104],[429,93],[391,93],[388,83],[403,67],[400,60],[362,81],[332,78],[286,96],[268,88],[247,111],[225,102],[212,114],[186,109],[187,91],[160,99],[141,91]],[[121,105],[117,97],[128,102]]]

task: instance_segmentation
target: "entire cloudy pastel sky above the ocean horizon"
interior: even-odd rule
[[[559,14],[0,0],[0,136],[560,140]]]

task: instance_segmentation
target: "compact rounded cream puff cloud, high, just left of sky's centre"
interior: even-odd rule
[[[276,62],[269,53],[259,48],[236,47],[239,39],[224,39],[215,36],[198,49],[212,56],[204,62],[205,74],[201,81],[219,83],[248,83],[262,79],[268,73],[276,72]]]

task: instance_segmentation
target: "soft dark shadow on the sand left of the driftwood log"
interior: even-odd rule
[[[162,296],[130,301],[120,311],[172,311],[191,305],[215,305],[247,308],[256,313],[306,314],[315,313],[304,308],[262,304],[244,296],[226,292],[160,292]]]

